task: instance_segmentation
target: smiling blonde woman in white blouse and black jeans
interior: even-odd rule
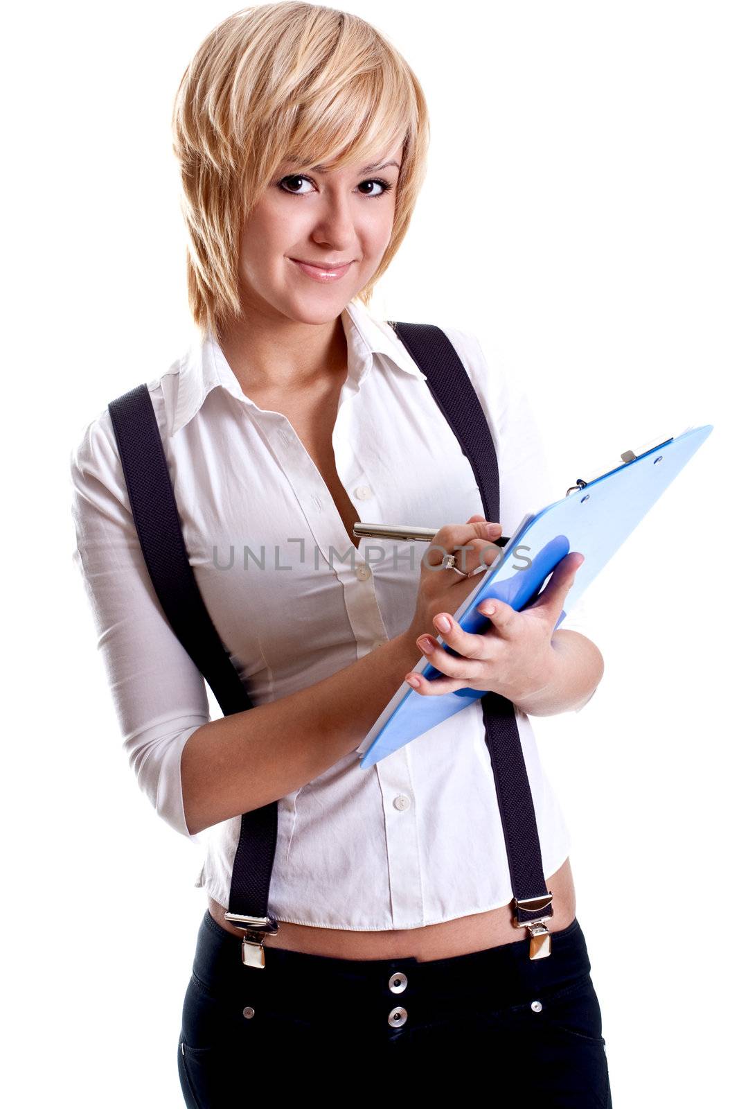
[[[603,674],[569,618],[553,631],[582,556],[562,560],[525,613],[499,602],[487,632],[461,632],[452,617],[476,582],[439,572],[442,553],[464,548],[472,574],[497,553],[492,540],[553,499],[536,428],[475,338],[444,328],[495,440],[501,521],[485,520],[422,373],[368,308],[424,174],[423,93],[357,17],[265,4],[203,42],[174,133],[201,334],[148,390],[191,566],[255,708],[209,719],[146,572],[107,409],[72,477],[76,557],[131,763],[179,833],[214,830],[177,1044],[185,1102],[271,1090],[274,1072],[253,1059],[316,1061],[322,1047],[336,1068],[350,1047],[357,1066],[381,1060],[382,1081],[402,1065],[417,1090],[447,1068],[492,1065],[496,1092],[510,1082],[548,1105],[609,1105],[567,830],[528,722],[582,708]],[[419,567],[412,543],[373,561],[352,533],[360,513],[454,522]],[[350,543],[349,566],[331,557]],[[553,894],[548,958],[528,958],[512,919],[480,702],[358,766],[357,745],[427,642],[445,676],[419,693],[473,685],[515,705]],[[279,927],[255,970],[225,913],[240,814],[277,800]]]

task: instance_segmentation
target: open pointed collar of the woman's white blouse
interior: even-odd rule
[[[340,318],[347,338],[347,383],[352,391],[359,389],[369,374],[374,355],[384,356],[398,369],[425,381],[425,374],[421,373],[392,327],[376,319],[361,302],[350,301]],[[215,335],[208,330],[204,337],[195,339],[179,363],[172,435],[199,411],[208,393],[216,386],[226,389],[242,404],[258,407],[242,389]]]

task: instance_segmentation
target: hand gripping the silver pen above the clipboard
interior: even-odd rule
[[[489,536],[489,521],[483,516],[471,516],[466,523],[448,523],[435,533],[421,560],[415,613],[406,632],[411,641],[423,632],[433,634],[437,612],[447,609],[456,612],[464,598],[480,583],[473,571],[481,566],[492,566],[500,557],[501,548],[493,539],[501,537],[503,528],[500,523],[491,526],[493,532]],[[460,547],[463,549],[460,550]],[[459,569],[472,577],[462,578],[453,570],[442,570],[444,551],[456,554]]]

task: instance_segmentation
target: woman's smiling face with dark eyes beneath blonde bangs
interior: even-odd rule
[[[281,163],[243,230],[245,309],[304,323],[335,319],[390,242],[401,157],[402,146],[381,151],[371,171]]]

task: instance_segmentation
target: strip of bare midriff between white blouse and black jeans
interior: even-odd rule
[[[561,932],[575,919],[575,886],[568,858],[558,871],[546,877],[546,888],[553,894],[553,915],[547,918],[546,926],[551,933]],[[239,928],[226,920],[225,906],[213,897],[208,897],[208,910],[226,932],[244,936]],[[513,923],[511,905],[501,905],[486,913],[442,920],[423,928],[396,928],[390,932],[316,928],[312,925],[281,920],[274,935],[265,936],[264,944],[265,947],[283,947],[291,952],[328,955],[339,959],[399,959],[412,956],[422,963],[482,952],[500,944],[527,938],[528,930],[517,928]]]

